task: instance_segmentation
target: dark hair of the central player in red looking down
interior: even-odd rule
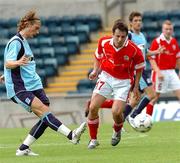
[[[128,26],[122,19],[118,19],[114,22],[112,32],[114,33],[116,29],[128,34]]]

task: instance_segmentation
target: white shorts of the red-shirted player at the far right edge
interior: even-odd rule
[[[160,81],[157,74],[152,73],[152,81],[157,93],[167,93],[180,89],[180,79],[175,70],[161,70],[164,80]]]

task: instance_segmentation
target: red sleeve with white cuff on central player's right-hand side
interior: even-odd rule
[[[134,62],[136,70],[143,69],[145,67],[145,60],[142,51],[139,48],[137,48],[136,55],[134,56]]]

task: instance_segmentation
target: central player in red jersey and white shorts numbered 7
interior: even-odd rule
[[[90,80],[97,78],[88,114],[90,134],[89,149],[99,145],[97,132],[99,127],[98,110],[103,102],[113,94],[112,115],[114,120],[111,145],[115,146],[121,140],[123,125],[122,113],[126,106],[127,97],[132,86],[133,93],[139,98],[139,80],[144,68],[144,58],[141,50],[128,39],[128,27],[122,20],[117,20],[112,28],[112,36],[99,40],[94,55],[94,68],[89,75]],[[134,71],[136,78],[134,79]]]

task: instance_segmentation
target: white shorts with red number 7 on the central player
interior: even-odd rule
[[[114,100],[126,101],[131,88],[130,79],[117,79],[102,71],[96,83],[93,93],[100,94],[105,98],[113,96]]]

